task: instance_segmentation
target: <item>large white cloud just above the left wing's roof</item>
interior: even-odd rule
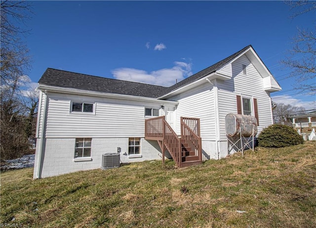
[[[150,73],[133,69],[133,68],[118,68],[112,71],[116,79],[142,82],[153,85],[171,86],[192,75],[192,64],[185,62],[175,62],[172,68],[164,68]]]

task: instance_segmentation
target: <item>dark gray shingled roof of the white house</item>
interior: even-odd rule
[[[243,49],[227,57],[226,59],[223,59],[222,61],[170,87],[163,87],[158,85],[150,85],[131,81],[123,81],[106,77],[90,76],[51,68],[47,68],[47,70],[41,76],[39,83],[44,85],[53,85],[66,88],[76,88],[98,92],[158,98],[162,95],[172,92],[175,89],[190,84],[204,76],[207,76],[217,71],[249,47],[251,47],[251,45],[244,47]]]

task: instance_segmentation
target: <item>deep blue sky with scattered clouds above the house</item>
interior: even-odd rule
[[[33,1],[33,12],[33,82],[54,68],[170,85],[251,44],[283,89],[276,103],[316,108],[280,64],[315,13],[290,19],[283,1]]]

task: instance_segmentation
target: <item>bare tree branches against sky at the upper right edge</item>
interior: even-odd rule
[[[293,11],[291,18],[316,11],[316,1],[285,1]],[[281,62],[292,71],[288,77],[296,79],[294,89],[303,94],[316,94],[316,23],[311,21],[311,28],[298,28],[293,38],[293,48]]]

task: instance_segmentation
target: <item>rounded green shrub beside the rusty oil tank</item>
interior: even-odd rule
[[[292,127],[280,124],[273,124],[262,130],[258,136],[260,147],[288,147],[304,143]]]

